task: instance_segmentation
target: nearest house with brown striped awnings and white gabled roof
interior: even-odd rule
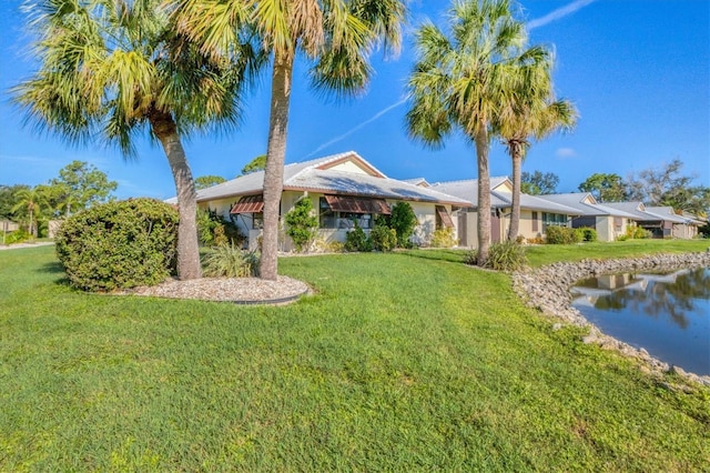
[[[263,185],[264,172],[253,172],[200,190],[197,204],[230,218],[248,236],[248,246],[255,248],[263,225]],[[426,244],[437,228],[456,228],[453,207],[470,207],[464,199],[389,179],[354,151],[286,164],[282,219],[302,198],[311,199],[317,210],[318,236],[326,242],[345,241],[355,222],[368,232],[376,215],[389,214],[396,202],[408,202],[419,222],[415,242]],[[280,246],[283,251],[292,249],[283,233]]]

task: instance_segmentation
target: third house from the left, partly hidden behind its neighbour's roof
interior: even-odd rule
[[[635,225],[637,214],[621,209],[600,204],[589,192],[539,195],[540,199],[570,207],[577,211],[571,227],[591,228],[597,231],[599,241],[615,241],[626,234],[629,225]]]

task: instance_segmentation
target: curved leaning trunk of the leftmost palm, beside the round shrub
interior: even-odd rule
[[[170,163],[178,193],[178,278],[180,280],[199,279],[202,275],[200,265],[200,244],[197,241],[197,193],[187,164],[185,151],[178,135],[173,117],[163,111],[151,110],[151,127],[160,140]]]

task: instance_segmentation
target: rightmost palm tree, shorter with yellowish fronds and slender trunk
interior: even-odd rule
[[[577,120],[575,105],[555,100],[551,80],[552,57],[540,48],[535,59],[517,69],[515,92],[508,95],[494,131],[503,139],[513,160],[513,210],[508,240],[517,238],[520,228],[521,164],[530,147],[529,138],[541,140],[557,130],[569,130]]]

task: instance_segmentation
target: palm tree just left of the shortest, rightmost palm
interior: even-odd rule
[[[417,62],[408,81],[409,137],[442,147],[454,130],[476,145],[478,168],[478,264],[490,245],[491,125],[515,89],[516,68],[536,61],[539,48],[524,50],[523,23],[508,0],[455,2],[447,36],[433,23],[416,33]]]

